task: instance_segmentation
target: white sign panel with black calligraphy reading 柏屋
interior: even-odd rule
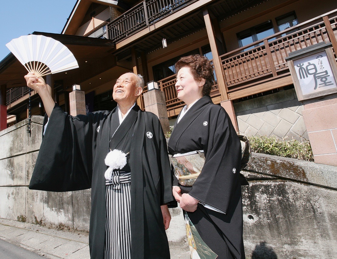
[[[337,87],[325,51],[294,60],[294,67],[303,95]]]

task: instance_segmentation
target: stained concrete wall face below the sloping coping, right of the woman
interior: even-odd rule
[[[335,190],[282,180],[253,181],[243,186],[242,198],[247,258],[335,257]]]

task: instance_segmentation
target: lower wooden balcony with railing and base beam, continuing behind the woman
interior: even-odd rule
[[[335,54],[336,15],[336,10],[331,11],[220,56],[229,99],[234,100],[293,84],[285,61],[290,52],[319,42],[332,42]],[[297,31],[292,32],[294,30]],[[282,36],[284,34],[288,35]],[[250,47],[253,48],[244,51]],[[159,81],[160,89],[165,92],[168,117],[178,115],[183,107],[183,103],[177,98],[175,78],[176,75],[173,75]],[[220,103],[221,96],[216,84],[213,86],[211,97],[214,103]]]

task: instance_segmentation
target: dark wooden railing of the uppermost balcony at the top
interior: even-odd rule
[[[196,0],[145,0],[108,24],[109,39],[120,41]]]

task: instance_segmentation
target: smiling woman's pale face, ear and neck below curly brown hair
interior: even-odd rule
[[[179,69],[176,82],[177,95],[187,106],[202,97],[205,79],[196,81],[189,67]]]

